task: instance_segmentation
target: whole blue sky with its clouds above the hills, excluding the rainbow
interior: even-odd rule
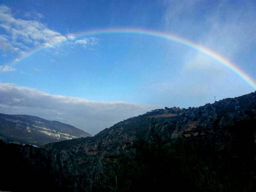
[[[59,120],[93,135],[154,108],[197,107],[215,95],[255,91],[218,61],[161,38],[72,40],[104,28],[172,34],[255,81],[255,1],[1,1],[0,19],[1,113]]]

